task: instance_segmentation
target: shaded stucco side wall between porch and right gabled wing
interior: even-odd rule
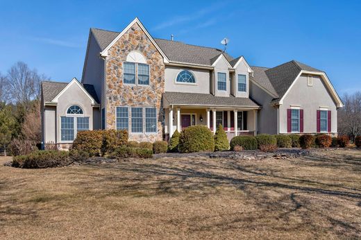
[[[277,134],[277,109],[269,104],[273,97],[254,83],[249,87],[250,97],[262,105],[258,110],[258,133]]]

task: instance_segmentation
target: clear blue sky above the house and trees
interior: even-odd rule
[[[222,48],[250,65],[299,60],[339,92],[361,89],[361,1],[1,1],[0,72],[22,60],[52,80],[81,79],[89,28],[139,17],[153,37]]]

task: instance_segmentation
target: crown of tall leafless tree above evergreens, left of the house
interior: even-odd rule
[[[36,69],[29,69],[24,62],[17,62],[8,71],[8,90],[13,103],[28,103],[40,96],[40,82],[45,80]]]

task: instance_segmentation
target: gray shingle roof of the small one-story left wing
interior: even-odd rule
[[[51,102],[53,98],[55,98],[64,87],[66,87],[69,83],[60,83],[60,82],[50,82],[43,81],[42,82],[42,97],[44,102]],[[96,96],[96,92],[93,85],[90,84],[82,84],[85,90],[94,98],[96,103],[99,103],[99,98]]]

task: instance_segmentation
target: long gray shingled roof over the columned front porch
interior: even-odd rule
[[[261,108],[251,98],[239,98],[235,96],[214,96],[212,94],[195,94],[185,92],[165,92],[163,94],[166,105],[184,105],[200,107],[223,107],[223,108]]]

